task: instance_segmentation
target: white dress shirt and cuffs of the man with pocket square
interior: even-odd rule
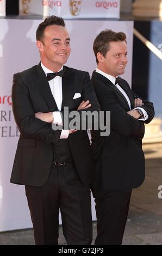
[[[41,62],[41,67],[45,72],[46,76],[48,73],[54,73],[52,70],[47,69]],[[63,70],[62,68],[59,70]],[[58,72],[59,72],[58,71]],[[62,77],[56,76],[52,80],[48,81],[49,87],[51,89],[52,95],[54,97],[55,103],[57,104],[58,110],[61,111],[61,105],[63,101],[63,92],[62,92]],[[63,120],[59,111],[53,112],[53,123],[63,126]],[[69,130],[61,130],[60,139],[66,139],[68,137]]]

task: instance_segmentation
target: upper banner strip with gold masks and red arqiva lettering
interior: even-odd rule
[[[120,0],[19,0],[20,15],[57,15],[66,19],[120,17]]]

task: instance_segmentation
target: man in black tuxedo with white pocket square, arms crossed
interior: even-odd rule
[[[21,136],[11,182],[25,185],[36,245],[58,244],[59,209],[68,245],[90,245],[90,142],[86,131],[64,129],[64,107],[78,111],[81,125],[82,112],[99,111],[99,105],[88,72],[64,66],[70,55],[64,20],[47,17],[36,40],[41,62],[13,79]]]

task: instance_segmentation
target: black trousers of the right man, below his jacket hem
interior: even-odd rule
[[[93,191],[96,203],[95,245],[121,245],[132,190]]]

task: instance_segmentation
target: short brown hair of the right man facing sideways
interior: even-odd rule
[[[96,62],[98,64],[97,53],[101,52],[103,57],[106,56],[107,52],[110,50],[110,42],[126,41],[126,34],[123,32],[114,32],[111,29],[105,29],[100,32],[94,41],[93,49],[96,57]]]

